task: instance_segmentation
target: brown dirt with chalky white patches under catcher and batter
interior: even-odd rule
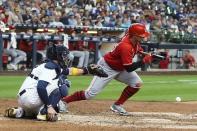
[[[16,100],[0,100],[0,131],[188,131],[197,130],[197,102],[135,102],[125,108],[129,116],[109,110],[113,101],[81,101],[69,104],[70,112],[58,122],[3,117]]]

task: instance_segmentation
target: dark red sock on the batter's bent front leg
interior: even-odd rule
[[[137,91],[139,90],[139,88],[133,88],[130,86],[127,86],[121,96],[119,97],[119,99],[115,102],[116,105],[122,105],[126,100],[128,100],[132,95],[134,95]]]

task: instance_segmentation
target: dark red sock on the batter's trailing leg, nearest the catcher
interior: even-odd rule
[[[65,101],[66,103],[80,100],[86,100],[84,91],[77,91],[74,94],[63,98],[63,101]]]

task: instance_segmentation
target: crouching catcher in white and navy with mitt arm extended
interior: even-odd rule
[[[61,99],[68,95],[70,87],[68,75],[92,74],[108,77],[103,68],[96,64],[82,69],[69,68],[73,56],[62,45],[49,46],[46,55],[47,60],[35,67],[20,87],[17,94],[19,106],[7,108],[6,117],[28,117],[43,121],[60,120]]]

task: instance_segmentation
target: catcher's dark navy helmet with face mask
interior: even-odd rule
[[[72,59],[69,50],[63,45],[49,46],[46,56],[48,59],[57,60],[62,68],[68,67]]]

